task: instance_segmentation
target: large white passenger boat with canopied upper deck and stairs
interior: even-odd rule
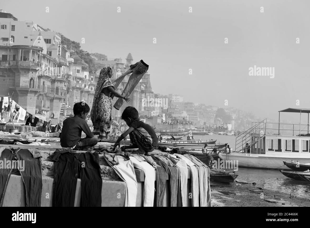
[[[309,163],[309,123],[280,123],[280,112],[295,112],[300,115],[308,113],[309,115],[310,109],[281,110],[278,123],[267,122],[267,119],[252,123],[253,127],[236,137],[236,152],[219,154],[219,157],[225,161],[238,161],[239,167],[249,168],[289,169],[283,165],[284,161]],[[273,132],[268,135],[264,134],[270,130],[277,130],[277,135],[272,135]]]

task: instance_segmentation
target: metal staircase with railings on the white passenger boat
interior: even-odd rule
[[[266,134],[266,125],[267,119],[264,119],[237,136],[235,151],[239,152],[240,150],[244,150],[247,143],[249,145],[248,149],[251,151],[255,144]]]

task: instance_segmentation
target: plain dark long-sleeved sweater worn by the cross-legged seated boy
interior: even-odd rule
[[[73,147],[77,145],[81,139],[82,131],[86,134],[86,138],[94,137],[85,119],[75,116],[66,118],[60,136],[60,145],[62,147]]]

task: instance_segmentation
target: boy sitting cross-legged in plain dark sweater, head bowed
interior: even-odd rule
[[[74,116],[64,120],[60,136],[60,145],[64,150],[91,151],[98,143],[98,138],[93,135],[85,121],[89,110],[85,102],[78,102],[73,106]],[[86,138],[81,139],[82,131],[86,134]]]

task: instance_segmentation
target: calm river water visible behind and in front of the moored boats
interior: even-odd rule
[[[229,147],[235,150],[236,137],[228,135],[194,135],[195,139],[209,141],[210,139],[217,140],[216,143],[228,143]],[[182,139],[186,140],[186,136]],[[255,187],[280,191],[286,194],[292,194],[301,198],[310,199],[310,182],[297,181],[281,174],[279,170],[256,169],[239,167],[236,172],[237,179],[240,180],[256,180]]]

